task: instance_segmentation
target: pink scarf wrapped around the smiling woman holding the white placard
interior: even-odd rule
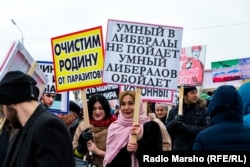
[[[148,122],[149,118],[144,115],[142,103],[140,104],[139,124],[141,128],[144,123]],[[118,115],[118,119],[113,122],[108,129],[106,155],[104,157],[104,167],[109,164],[117,153],[127,145],[130,140],[131,127],[133,118],[125,118],[122,113]],[[134,154],[131,154],[131,167],[138,167],[138,160]]]

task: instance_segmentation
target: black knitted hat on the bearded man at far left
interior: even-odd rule
[[[37,82],[21,71],[10,71],[0,81],[0,104],[17,104],[38,100]]]

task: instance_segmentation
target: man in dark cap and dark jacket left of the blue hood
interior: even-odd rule
[[[180,99],[183,100],[183,114],[178,114],[179,105],[176,105],[169,111],[166,123],[173,151],[191,151],[196,135],[209,121],[206,101],[198,98],[196,87],[184,87],[183,95]]]

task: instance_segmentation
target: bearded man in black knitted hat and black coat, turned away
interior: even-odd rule
[[[19,129],[9,143],[4,167],[74,167],[70,134],[56,115],[38,102],[36,81],[21,71],[0,81],[0,105]]]

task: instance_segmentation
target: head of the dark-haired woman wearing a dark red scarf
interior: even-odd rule
[[[95,94],[88,101],[89,118],[100,121],[108,118],[110,113],[110,105],[108,100],[101,94]]]

